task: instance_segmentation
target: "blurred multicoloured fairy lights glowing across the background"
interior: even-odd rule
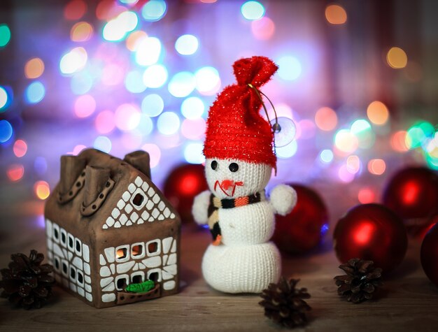
[[[220,6],[216,0],[194,2]],[[239,15],[250,22],[248,38],[259,41],[273,38],[278,24],[269,17],[269,8],[263,2],[269,3],[239,4]],[[63,8],[64,20],[71,26],[69,36],[65,36],[68,43],[56,61],[57,75],[69,82],[69,116],[92,120],[95,137],[89,145],[111,152],[114,141],[121,140],[126,150],[148,151],[152,168],[165,164],[164,150],[174,147],[181,151],[180,159],[192,164],[204,162],[207,111],[223,88],[218,68],[204,60],[208,50],[199,31],[179,34],[169,47],[164,32],[154,29],[171,6],[172,1],[164,0],[102,0],[92,12],[87,1],[72,0]],[[96,20],[86,20],[90,16]],[[329,26],[341,26],[348,20],[346,10],[339,4],[327,5],[321,17]],[[0,22],[0,52],[8,48],[13,38],[14,31],[10,29]],[[175,61],[191,57],[195,60],[190,70],[181,69]],[[284,84],[304,75],[302,62],[293,50],[274,61],[280,67],[278,80]],[[409,60],[402,48],[394,46],[388,50],[385,61],[399,70]],[[50,194],[45,179],[47,161],[44,156],[37,156],[27,163],[30,166],[22,162],[28,154],[29,142],[9,118],[17,104],[44,103],[48,94],[46,67],[51,65],[41,57],[27,59],[22,64],[27,85],[22,94],[21,89],[8,82],[0,85],[0,148],[11,149],[15,155],[6,168],[6,176],[10,182],[19,182],[27,173],[35,173],[39,180],[34,190],[39,199]],[[108,96],[115,96],[111,102],[117,103],[106,102]],[[315,140],[318,167],[330,168],[335,180],[352,182],[364,173],[379,176],[387,171],[388,161],[372,153],[376,141],[387,138],[393,152],[415,151],[430,168],[438,169],[437,129],[430,122],[418,120],[408,124],[406,130],[390,132],[390,111],[381,101],[369,101],[366,110],[348,121],[340,119],[337,110],[327,106],[301,114],[281,100],[274,105],[279,117],[291,118],[297,127],[295,140],[276,149],[280,159],[292,161],[303,141]],[[320,139],[327,135],[331,140]],[[78,142],[65,153],[78,154],[86,145]],[[375,196],[373,189],[363,187],[358,192],[358,201],[367,203]]]

